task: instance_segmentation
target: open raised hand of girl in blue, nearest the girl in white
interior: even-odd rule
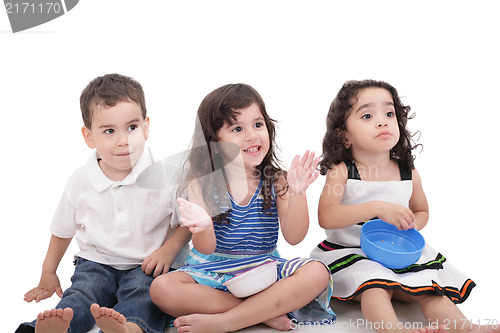
[[[314,158],[314,152],[306,150],[304,156],[300,158],[296,155],[288,169],[287,182],[291,195],[301,195],[319,176],[316,170],[319,158]]]

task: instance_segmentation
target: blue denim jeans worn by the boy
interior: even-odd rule
[[[173,319],[161,312],[151,301],[149,286],[152,276],[140,267],[117,270],[82,258],[76,259],[75,274],[56,308],[72,308],[73,320],[68,332],[88,332],[95,320],[90,313],[92,303],[114,308],[139,325],[147,333],[163,333]],[[36,321],[27,325],[35,326]]]

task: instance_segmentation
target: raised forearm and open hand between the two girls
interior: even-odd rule
[[[306,151],[300,158],[295,156],[288,170],[287,179],[278,179],[278,188],[288,184],[288,191],[276,200],[280,217],[281,232],[285,240],[296,245],[300,243],[309,229],[309,211],[307,209],[306,189],[318,178],[316,167],[319,159],[314,153]]]

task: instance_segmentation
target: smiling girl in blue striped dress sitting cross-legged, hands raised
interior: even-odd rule
[[[276,249],[305,237],[305,191],[318,177],[314,153],[278,166],[275,121],[250,86],[230,84],[208,94],[198,109],[181,222],[192,232],[188,266],[158,277],[153,302],[178,317],[179,332],[229,332],[264,323],[289,330],[298,322],[330,323],[332,280],[319,260],[290,261]],[[213,217],[213,218],[212,218]],[[240,299],[223,285],[235,274],[278,261],[278,281]],[[287,315],[288,314],[288,315]]]

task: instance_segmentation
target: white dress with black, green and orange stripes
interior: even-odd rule
[[[413,191],[411,172],[400,168],[401,181],[363,181],[354,163],[346,163],[348,180],[342,204],[386,201],[409,206]],[[410,295],[447,296],[462,303],[475,283],[454,268],[446,258],[426,245],[421,258],[404,269],[389,269],[367,258],[360,247],[361,226],[326,230],[327,238],[311,252],[311,257],[328,265],[333,277],[333,298],[355,299],[369,288],[401,290]]]

